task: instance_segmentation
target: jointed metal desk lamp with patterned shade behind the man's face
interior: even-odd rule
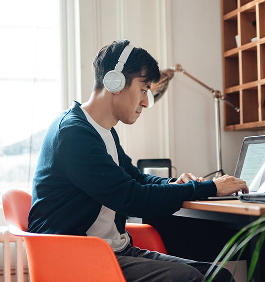
[[[216,138],[216,158],[217,158],[217,170],[206,175],[205,177],[215,174],[213,179],[223,175],[223,170],[222,170],[222,163],[221,163],[221,127],[220,127],[220,99],[230,105],[231,107],[234,108],[236,112],[239,112],[240,109],[239,107],[235,107],[231,102],[227,101],[225,97],[221,94],[221,91],[219,90],[214,90],[213,88],[209,87],[202,81],[199,81],[189,73],[187,73],[184,69],[182,69],[180,64],[176,64],[174,67],[171,67],[170,69],[162,70],[161,71],[161,78],[160,81],[157,83],[153,83],[151,85],[151,91],[152,94],[154,95],[154,101],[158,101],[166,92],[169,81],[173,78],[175,72],[180,72],[183,75],[186,75],[193,81],[199,83],[203,87],[205,87],[207,90],[210,91],[210,93],[213,95],[215,99],[215,138]]]

